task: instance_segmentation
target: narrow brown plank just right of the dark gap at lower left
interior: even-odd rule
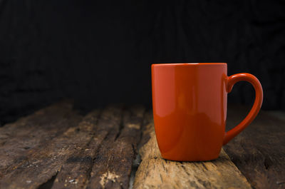
[[[110,113],[110,109],[103,112]],[[98,126],[98,110],[88,113],[77,129],[85,131],[85,135],[78,141],[81,149],[71,154],[58,171],[52,188],[83,188],[88,182],[90,171],[93,166],[93,158],[98,145],[102,140],[94,140],[95,131]],[[94,143],[95,142],[95,143]]]

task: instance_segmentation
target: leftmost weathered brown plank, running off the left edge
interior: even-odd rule
[[[0,179],[28,162],[33,149],[61,135],[81,120],[72,103],[63,101],[0,128]]]

